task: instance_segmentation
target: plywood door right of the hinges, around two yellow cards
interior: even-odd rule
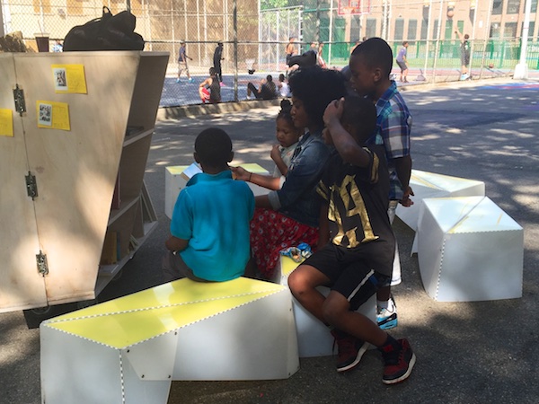
[[[24,130],[50,303],[93,297],[139,52],[69,52],[16,58],[29,89]],[[87,94],[56,93],[53,64],[83,64]],[[71,130],[39,128],[36,101],[69,105]]]

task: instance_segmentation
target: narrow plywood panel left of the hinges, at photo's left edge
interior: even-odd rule
[[[24,180],[29,167],[22,118],[14,110],[13,54],[0,53],[0,77],[0,109],[13,111],[14,134],[0,136],[0,312],[4,312],[44,306],[47,296],[36,265],[40,245]]]

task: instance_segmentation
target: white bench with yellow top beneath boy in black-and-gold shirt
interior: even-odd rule
[[[276,280],[281,285],[288,285],[288,277],[298,265],[300,264],[289,257],[281,257],[276,271]],[[318,290],[326,296],[330,293],[330,289],[325,286],[319,286]],[[294,297],[292,299],[299,357],[332,355],[333,337],[330,330],[313,314],[307,312]],[[367,303],[359,307],[358,312],[365,314],[372,321],[376,321],[376,296],[371,297]]]

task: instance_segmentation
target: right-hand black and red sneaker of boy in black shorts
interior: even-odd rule
[[[394,384],[408,379],[415,364],[416,358],[411,351],[408,339],[398,339],[397,342],[400,348],[393,347],[391,344],[378,348],[384,356],[384,376],[382,377],[384,384]]]

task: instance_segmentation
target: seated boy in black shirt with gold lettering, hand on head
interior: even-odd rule
[[[296,268],[288,285],[306,310],[331,327],[339,348],[338,372],[355,367],[373,344],[384,358],[382,382],[402,382],[416,360],[408,340],[394,339],[355,312],[392,275],[394,236],[387,215],[384,147],[365,145],[376,129],[376,107],[347,96],[332,101],[323,119],[324,140],[335,146],[318,186],[325,199],[320,238],[329,242]],[[330,286],[330,294],[324,297],[318,285]]]

